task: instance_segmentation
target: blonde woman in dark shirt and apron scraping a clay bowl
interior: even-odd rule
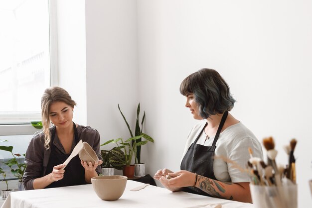
[[[73,122],[75,105],[67,91],[60,87],[44,91],[41,98],[43,131],[31,139],[25,156],[27,167],[23,183],[26,190],[87,184],[100,174],[101,160],[94,165],[87,164],[78,155],[64,169],[64,161],[79,140],[89,143],[101,159],[100,135],[90,126]]]

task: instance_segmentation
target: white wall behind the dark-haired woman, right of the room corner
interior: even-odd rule
[[[219,71],[237,100],[232,114],[259,140],[297,138],[299,206],[311,207],[312,2],[138,0],[140,99],[147,112],[148,172],[179,170],[194,120],[179,94],[200,68]]]

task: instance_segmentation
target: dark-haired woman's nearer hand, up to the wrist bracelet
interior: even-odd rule
[[[189,171],[178,171],[175,173],[168,173],[169,176],[172,178],[166,181],[166,185],[170,188],[181,188],[181,187],[188,187],[194,186],[195,184],[195,173],[191,173]],[[162,180],[165,178],[163,177]],[[161,179],[160,179],[161,181]]]

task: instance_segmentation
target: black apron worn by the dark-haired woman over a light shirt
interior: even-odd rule
[[[227,115],[228,115],[228,111],[225,111],[222,116],[217,133],[214,137],[212,146],[209,146],[209,147],[196,144],[200,135],[204,131],[205,127],[207,126],[207,123],[205,124],[205,126],[200,131],[197,138],[195,139],[195,141],[188,148],[181,162],[181,167],[180,167],[181,170],[186,170],[192,173],[196,173],[197,175],[200,175],[200,176],[204,176],[210,179],[217,180],[213,173],[213,157],[214,157],[214,151],[216,149],[216,143],[219,138],[221,129],[224,125]],[[184,187],[182,188],[182,191],[211,197],[209,194],[207,194],[204,191],[201,191],[200,189],[196,187]]]

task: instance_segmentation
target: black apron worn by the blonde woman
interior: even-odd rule
[[[74,122],[73,122],[74,123]],[[75,131],[75,141],[76,144],[79,142],[79,136],[77,132],[76,124],[74,123],[74,131]],[[49,158],[49,162],[46,168],[45,175],[52,173],[53,167],[65,162],[65,160],[69,157],[70,154],[56,154],[55,146],[53,144],[55,137],[55,126],[51,132],[51,154]],[[65,167],[64,178],[59,181],[54,181],[46,188],[55,188],[55,187],[64,187],[64,186],[75,186],[75,185],[83,185],[87,184],[85,181],[85,169],[80,163],[80,158],[76,155],[68,165]]]

